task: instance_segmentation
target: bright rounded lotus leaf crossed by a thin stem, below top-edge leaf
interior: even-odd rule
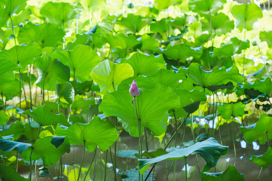
[[[229,17],[224,13],[219,13],[211,17],[212,20],[212,33],[217,36],[230,33],[234,29],[234,22],[230,21]],[[203,19],[203,30],[211,31],[210,19]]]

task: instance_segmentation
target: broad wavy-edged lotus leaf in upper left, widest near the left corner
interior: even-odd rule
[[[37,42],[41,48],[57,47],[63,43],[65,32],[56,24],[43,23],[33,24],[29,22],[20,28],[18,42],[20,44],[27,42]]]

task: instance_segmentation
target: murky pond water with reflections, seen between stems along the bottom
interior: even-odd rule
[[[211,126],[211,125],[210,125]],[[231,128],[231,126],[229,126]],[[249,157],[252,156],[252,154],[260,155],[263,154],[266,149],[267,145],[258,145],[257,142],[253,142],[252,144],[246,143],[242,139],[242,135],[239,132],[239,124],[234,123],[233,125],[233,131],[235,136],[235,145],[236,145],[236,168],[237,171],[240,173],[243,173],[245,175],[246,181],[256,180],[258,177],[258,173],[260,170],[260,167],[258,167],[256,164],[252,162],[249,162]],[[216,166],[216,169],[212,168],[209,170],[209,172],[220,172],[224,171],[228,168],[229,165],[233,165],[235,162],[234,157],[234,149],[233,149],[233,143],[230,140],[230,132],[228,130],[228,127],[226,124],[220,127],[221,129],[221,138],[223,145],[229,146],[229,151],[225,156],[222,156]],[[174,133],[175,128],[173,125],[168,126],[166,137],[169,140],[171,135]],[[199,135],[201,133],[205,133],[205,128],[196,127],[195,128],[195,135]],[[169,134],[168,134],[169,133]],[[148,146],[149,150],[158,149],[160,147],[159,138],[151,136],[151,133],[148,132]],[[178,133],[178,143],[181,142],[183,136],[183,130],[179,131]],[[219,132],[215,132],[215,138],[220,142]],[[123,149],[138,149],[138,138],[131,137],[126,133],[125,131],[121,132],[120,139],[117,139],[117,151],[123,150]],[[185,131],[185,138],[184,142],[188,142],[192,140],[192,134],[189,127],[186,127]],[[238,141],[239,140],[239,141]],[[143,136],[143,149],[146,150],[146,140],[145,136]],[[170,146],[173,146],[174,141]],[[252,145],[252,146],[251,146]],[[164,141],[161,144],[161,147],[164,147]],[[114,146],[112,146],[112,156],[114,156]],[[75,146],[75,165],[73,165],[73,147],[71,147],[71,152],[69,154],[64,154],[62,156],[62,164],[63,164],[63,173],[64,176],[60,177],[57,180],[77,180],[78,173],[79,173],[79,164],[82,159],[82,153],[83,149],[82,146]],[[85,154],[85,160],[83,163],[83,168],[81,172],[80,180],[84,179],[85,173],[87,172],[89,168],[89,164],[91,160],[93,159],[93,153],[86,152]],[[106,151],[100,152],[97,151],[96,159],[90,169],[89,174],[86,177],[86,180],[97,180],[101,181],[104,180],[105,175],[105,159],[106,159]],[[114,157],[113,157],[114,159]],[[173,160],[167,160],[167,167],[170,168]],[[198,161],[199,161],[199,167],[202,169],[206,161],[198,155]],[[114,172],[113,172],[113,165],[111,161],[110,154],[107,155],[107,163],[106,163],[106,180],[114,180]],[[40,166],[37,166],[37,170]],[[53,178],[57,177],[58,175],[58,168],[59,168],[59,162],[55,163],[53,166],[49,167],[50,175],[46,176],[39,176],[38,172],[34,175],[33,178],[36,180],[53,180]],[[137,159],[131,159],[131,158],[121,158],[117,157],[117,172],[120,173],[123,170],[130,169],[130,168],[137,168]],[[150,167],[151,168],[151,167]],[[188,169],[188,180],[200,180],[200,174],[197,169],[197,163],[195,155],[191,155],[187,158],[187,169]],[[28,176],[29,167],[28,166],[20,166],[19,172],[27,177]],[[176,180],[185,180],[184,179],[184,171],[185,171],[185,165],[184,160],[177,160],[176,161]],[[158,164],[156,164],[156,173],[157,177],[156,180],[165,180],[166,177],[166,168],[165,168],[165,162],[161,161]],[[270,165],[268,168],[263,168],[261,172],[261,180],[271,180],[272,176],[272,166]],[[40,178],[39,178],[40,177]],[[117,175],[117,179],[120,179],[120,175]],[[168,176],[168,180],[173,180],[173,168]]]

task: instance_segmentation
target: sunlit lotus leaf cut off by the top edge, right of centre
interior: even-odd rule
[[[226,0],[194,0],[189,2],[189,10],[208,19],[210,14],[216,15],[223,9],[225,3]]]

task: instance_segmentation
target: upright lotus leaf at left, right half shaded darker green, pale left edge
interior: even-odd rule
[[[63,65],[59,60],[51,58],[45,52],[35,60],[34,65],[38,69],[38,79],[35,83],[42,89],[55,91],[56,83],[69,81],[69,67]]]

